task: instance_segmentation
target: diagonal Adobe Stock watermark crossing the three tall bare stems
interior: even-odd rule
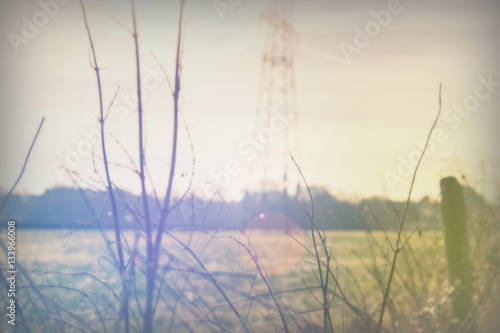
[[[156,67],[145,66],[145,74],[142,77],[142,96],[146,98],[149,93],[161,86],[165,81],[165,76],[161,66],[156,64]],[[110,116],[115,116],[120,120],[126,119],[132,111],[137,110],[137,88],[132,87],[128,93],[118,96],[110,114],[104,121],[104,129],[108,133],[112,133],[116,129],[115,121]],[[82,130],[83,139],[79,140],[75,145],[66,145],[66,154],[62,161],[53,161],[51,166],[57,178],[62,181],[65,170],[76,171],[83,163],[85,157],[92,154],[94,146],[101,140],[101,128],[93,128],[91,130]]]

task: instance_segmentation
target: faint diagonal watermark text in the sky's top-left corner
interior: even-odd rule
[[[41,29],[45,28],[49,21],[59,14],[61,5],[66,5],[70,0],[39,0],[37,2],[40,10],[30,17],[21,17],[21,31],[19,33],[8,32],[7,39],[15,53],[19,53],[19,47],[26,45],[35,38]]]

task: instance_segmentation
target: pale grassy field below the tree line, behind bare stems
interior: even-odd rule
[[[134,234],[126,232],[125,235],[132,246]],[[163,292],[155,316],[158,331],[168,328],[187,331],[188,327],[195,331],[218,331],[212,322],[223,323],[229,331],[239,331],[241,324],[211,278],[218,282],[255,331],[279,330],[281,318],[277,304],[291,331],[314,331],[322,327],[322,294],[318,288],[317,262],[311,253],[310,232],[297,231],[289,235],[256,230],[251,234],[247,231],[247,237],[234,231],[175,232],[174,235],[189,245],[203,266],[177,241],[165,240],[167,251],[161,258],[163,277],[159,282]],[[112,239],[111,232],[107,236]],[[325,236],[328,251],[334,258],[330,266],[338,280],[338,284],[330,282],[334,327],[337,331],[361,331],[362,320],[346,305],[340,291],[352,306],[370,320],[376,320],[382,300],[380,286],[387,279],[387,258],[392,253],[390,245],[382,232],[327,231]],[[394,240],[395,233],[387,236]],[[26,269],[39,273],[30,275],[51,308],[57,309],[61,316],[65,316],[64,312],[74,314],[65,318],[74,325],[75,331],[79,331],[77,327],[83,327],[84,322],[92,323],[92,329],[97,331],[114,329],[120,305],[117,301],[119,276],[108,261],[112,258],[98,231],[20,230],[18,238],[18,260]],[[138,248],[144,249],[144,244],[139,243]],[[419,313],[432,306],[434,318],[428,318],[426,325],[439,327],[449,312],[442,233],[424,231],[421,236],[414,235],[399,260],[391,289],[391,311],[384,327],[393,331],[419,331],[422,326]],[[256,261],[263,276],[256,270]],[[140,272],[145,264],[144,253],[136,253],[133,264]],[[133,282],[131,307],[135,318],[132,321],[140,326],[142,310],[137,304],[143,304],[145,278],[137,273],[130,281]],[[20,301],[23,287],[28,289],[26,281],[18,286]],[[36,301],[24,299],[31,303],[25,306],[24,316],[42,320],[45,327],[40,331],[49,332],[57,323]],[[5,308],[3,302],[2,309]],[[439,302],[442,304],[436,305]],[[5,328],[3,321],[2,330]]]

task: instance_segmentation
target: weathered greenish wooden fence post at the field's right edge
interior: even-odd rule
[[[444,222],[446,259],[452,293],[453,317],[463,324],[473,303],[472,266],[469,258],[469,238],[464,190],[455,177],[441,179],[441,214]]]

